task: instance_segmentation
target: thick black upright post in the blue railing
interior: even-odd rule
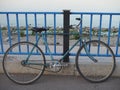
[[[69,50],[69,24],[70,24],[70,10],[63,10],[63,53]],[[69,62],[69,54],[64,58],[64,62]]]

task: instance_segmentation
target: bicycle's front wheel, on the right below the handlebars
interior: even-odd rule
[[[104,42],[88,41],[78,50],[76,67],[84,79],[93,83],[103,82],[115,69],[115,56]]]

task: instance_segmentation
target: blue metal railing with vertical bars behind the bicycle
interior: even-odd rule
[[[88,39],[104,40],[120,56],[120,13],[70,12],[70,24],[77,24],[76,17],[82,19],[80,33],[89,33]],[[63,30],[63,12],[0,12],[0,54],[15,42],[30,41],[31,26],[52,28],[54,40],[53,55],[62,55],[57,50],[57,29]],[[25,37],[22,37],[24,29]],[[99,33],[99,35],[98,35]],[[14,35],[16,41],[14,41]],[[6,37],[7,36],[7,37]],[[96,37],[97,36],[97,37]],[[104,37],[104,38],[103,38]],[[37,34],[35,35],[37,39]],[[47,38],[48,39],[48,38]],[[60,42],[61,43],[61,42]],[[45,53],[47,50],[45,48]],[[75,53],[70,53],[75,55]]]

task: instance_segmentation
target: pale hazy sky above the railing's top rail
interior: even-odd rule
[[[0,11],[120,12],[120,0],[0,0]]]

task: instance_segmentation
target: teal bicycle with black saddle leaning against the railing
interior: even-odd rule
[[[78,27],[82,23],[80,18]],[[36,43],[18,42],[13,44],[5,52],[3,57],[3,70],[7,77],[17,84],[30,84],[39,79],[45,70],[59,72],[64,64],[64,57],[76,46],[79,45],[75,58],[78,73],[87,81],[99,83],[107,80],[115,69],[115,56],[112,49],[103,41],[86,41],[79,33],[79,39],[71,48],[58,60],[54,59],[48,43],[46,41],[46,28],[33,27],[32,30],[39,33]],[[51,60],[46,60],[45,54],[39,47],[38,42],[42,36],[42,41],[49,53]],[[107,53],[107,56],[105,55]],[[11,68],[11,66],[13,68]],[[14,69],[14,70],[13,70]]]

